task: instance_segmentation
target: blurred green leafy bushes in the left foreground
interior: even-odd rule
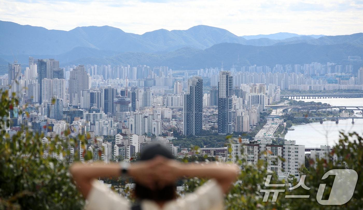
[[[50,140],[27,126],[10,137],[9,111],[18,105],[12,96],[1,92],[0,209],[81,209],[84,199],[68,171],[68,162],[79,157],[74,153],[77,141],[58,136]]]

